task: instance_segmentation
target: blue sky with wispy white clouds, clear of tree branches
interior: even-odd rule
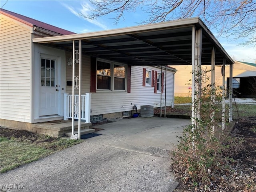
[[[70,0],[0,0],[0,6],[3,9],[40,20],[42,22],[58,26],[60,28],[70,30],[75,33],[86,33],[93,31],[101,31],[115,28],[123,28],[129,26],[137,26],[141,20],[145,20],[147,15],[140,9],[137,12],[128,12],[124,15],[124,20],[120,20],[119,24],[114,24],[112,16],[102,17],[98,20],[88,20],[78,15],[78,12],[86,15],[90,13],[90,2],[70,1]],[[256,48],[251,46],[238,46],[241,40],[232,38],[221,38],[214,33],[218,41],[222,44],[226,52],[238,61],[255,63]]]

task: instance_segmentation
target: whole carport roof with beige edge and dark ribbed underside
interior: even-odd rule
[[[81,40],[82,54],[128,65],[190,65],[193,26],[202,28],[202,64],[211,64],[212,47],[216,48],[216,64],[222,64],[223,58],[226,58],[226,64],[234,63],[200,18],[34,38],[33,42],[72,51],[73,40]]]

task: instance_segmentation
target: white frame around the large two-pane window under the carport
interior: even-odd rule
[[[106,62],[110,64],[110,78],[111,78],[111,82],[110,82],[110,89],[98,89],[98,74],[97,74],[97,68],[98,68],[98,61],[100,62]],[[124,66],[125,69],[125,88],[124,90],[115,90],[114,89],[114,80],[115,80],[115,76],[114,76],[114,65],[118,65],[118,66]],[[102,76],[102,75],[100,75]],[[118,63],[118,62],[112,62],[109,60],[104,60],[104,59],[100,59],[100,58],[96,58],[96,91],[97,92],[127,92],[128,90],[128,66],[126,64],[122,64],[122,63]]]

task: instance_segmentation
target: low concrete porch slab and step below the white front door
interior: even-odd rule
[[[81,122],[82,134],[92,133],[94,129],[90,129],[89,126],[92,123]],[[78,121],[74,122],[74,130],[78,130]],[[62,137],[72,132],[72,121],[60,121],[56,123],[41,122],[32,124],[32,131],[38,134],[46,134],[52,137]],[[76,132],[75,132],[76,133]]]

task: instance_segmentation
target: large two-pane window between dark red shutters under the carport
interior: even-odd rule
[[[97,61],[97,90],[126,90],[126,66]]]

